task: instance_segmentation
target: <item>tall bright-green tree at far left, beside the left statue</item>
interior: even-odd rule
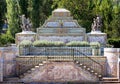
[[[12,36],[15,36],[15,34],[20,31],[17,0],[6,0],[6,2],[9,30]]]

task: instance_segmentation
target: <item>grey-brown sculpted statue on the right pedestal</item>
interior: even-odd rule
[[[100,16],[97,16],[96,18],[93,19],[93,23],[91,25],[92,31],[101,31],[102,27],[102,20]]]

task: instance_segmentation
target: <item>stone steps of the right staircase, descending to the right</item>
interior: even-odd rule
[[[99,80],[102,80],[102,73],[97,73],[96,71],[94,71],[93,69],[91,69],[90,67],[84,65],[83,63],[80,63],[79,61],[75,61],[75,64],[79,67],[81,67],[84,70],[87,70],[88,72],[90,72],[91,74],[95,75],[96,77],[99,78]]]

